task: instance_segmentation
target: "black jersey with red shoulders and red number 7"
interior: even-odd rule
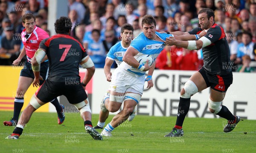
[[[56,34],[42,40],[39,48],[46,50],[49,59],[47,79],[55,82],[65,82],[67,79],[80,81],[79,64],[87,56],[80,42],[67,34]]]

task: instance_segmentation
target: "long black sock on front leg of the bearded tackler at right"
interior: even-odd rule
[[[180,97],[175,128],[177,129],[182,128],[186,114],[189,112],[189,106],[190,106],[190,98]]]

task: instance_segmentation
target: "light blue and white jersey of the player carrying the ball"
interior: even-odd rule
[[[156,35],[161,40],[166,40],[167,37],[173,36],[172,34],[160,34],[159,32],[156,32]],[[160,52],[163,51],[163,48],[165,46],[166,45],[162,41],[148,39],[143,34],[143,32],[140,33],[136,38],[134,38],[130,45],[130,47],[139,51],[139,53],[135,55],[134,58],[137,58],[143,54],[147,54],[151,55],[154,58],[154,60],[158,57]],[[126,62],[122,62],[120,64],[120,67],[136,75],[141,76],[145,74],[145,71],[140,71],[139,69],[134,68],[131,65],[128,65]]]

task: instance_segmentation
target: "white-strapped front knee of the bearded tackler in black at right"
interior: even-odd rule
[[[195,83],[191,80],[188,80],[185,83],[183,90],[180,91],[180,97],[181,98],[190,98],[197,92],[198,92],[198,88],[195,85]]]

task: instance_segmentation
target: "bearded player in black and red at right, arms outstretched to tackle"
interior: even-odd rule
[[[232,131],[241,120],[239,116],[234,116],[226,106],[221,105],[227,88],[233,82],[231,71],[230,49],[226,40],[223,28],[214,23],[214,11],[209,8],[203,8],[198,12],[200,28],[189,31],[189,34],[195,34],[198,41],[176,40],[174,37],[166,38],[166,45],[176,45],[189,50],[199,50],[202,48],[204,65],[193,74],[184,88],[180,91],[180,102],[176,125],[171,133],[166,137],[183,136],[182,125],[186,114],[189,111],[190,97],[199,91],[211,87],[208,107],[211,113],[215,113],[228,120],[224,127],[224,132]],[[200,38],[199,33],[205,30],[207,33]],[[172,33],[172,34],[178,34]],[[182,34],[182,33],[181,33]]]

